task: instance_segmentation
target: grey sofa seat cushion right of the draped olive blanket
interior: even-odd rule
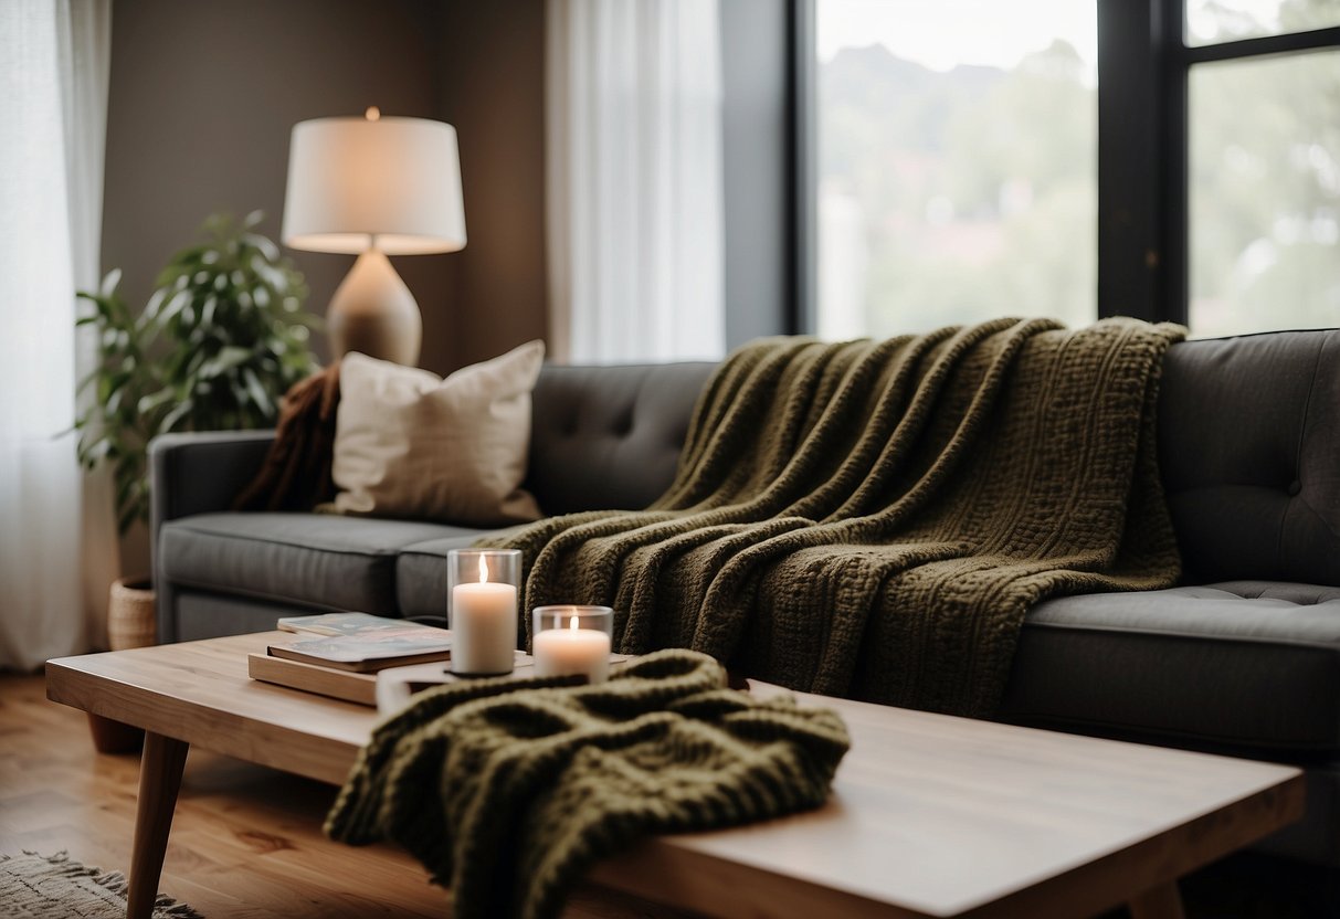
[[[1025,620],[1000,717],[1262,756],[1340,750],[1340,588],[1047,600]]]

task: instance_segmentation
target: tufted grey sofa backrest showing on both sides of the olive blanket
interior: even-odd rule
[[[714,367],[545,366],[527,478],[544,512],[658,498]],[[1340,585],[1340,330],[1172,346],[1159,464],[1189,581]]]

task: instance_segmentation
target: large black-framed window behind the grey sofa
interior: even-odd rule
[[[1340,326],[1336,0],[796,1],[807,331]]]

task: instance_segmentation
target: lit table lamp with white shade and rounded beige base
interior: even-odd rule
[[[315,118],[293,126],[284,244],[356,253],[327,311],[332,356],[418,363],[418,304],[386,256],[465,246],[456,129],[425,118]]]

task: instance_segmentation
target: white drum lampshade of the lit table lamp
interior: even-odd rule
[[[312,252],[465,246],[456,129],[425,118],[316,118],[293,126],[281,238]]]

